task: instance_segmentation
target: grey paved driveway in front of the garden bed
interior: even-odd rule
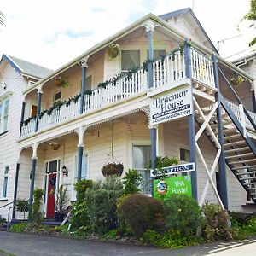
[[[75,240],[49,236],[34,236],[0,232],[0,248],[19,256],[88,255],[88,256],[255,256],[256,238],[236,242],[218,242],[176,250],[160,250],[132,244]]]

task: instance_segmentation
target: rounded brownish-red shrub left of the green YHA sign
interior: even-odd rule
[[[165,230],[165,207],[146,195],[127,195],[119,202],[119,215],[129,225],[134,236],[140,237],[150,229]]]

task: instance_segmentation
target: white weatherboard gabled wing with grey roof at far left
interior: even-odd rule
[[[14,199],[16,164],[20,154],[17,138],[24,101],[22,91],[51,72],[10,55],[3,55],[0,61],[0,207],[9,204],[0,208],[0,215],[5,218]],[[26,114],[35,115],[36,108],[37,102],[28,102]]]

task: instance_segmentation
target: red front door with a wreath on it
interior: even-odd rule
[[[52,173],[52,174],[49,174],[48,176],[46,218],[55,217],[55,188],[56,188],[56,173]]]

